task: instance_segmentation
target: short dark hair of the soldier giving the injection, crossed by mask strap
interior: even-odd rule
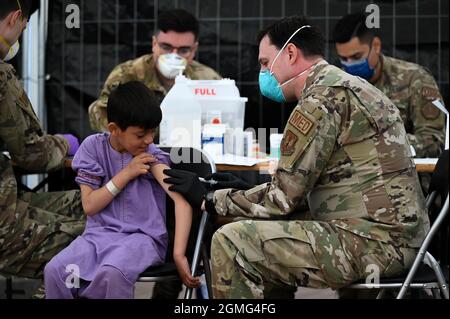
[[[260,43],[267,35],[270,42],[281,49],[289,37],[298,28],[305,25],[310,25],[305,17],[286,17],[260,31],[257,41]],[[302,29],[290,40],[290,43],[298,47],[305,57],[324,56],[324,38],[317,27],[311,26],[311,28]]]

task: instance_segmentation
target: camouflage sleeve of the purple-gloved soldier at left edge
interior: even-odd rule
[[[12,70],[0,72],[0,139],[16,165],[33,172],[62,167],[69,148],[62,136],[42,130]]]

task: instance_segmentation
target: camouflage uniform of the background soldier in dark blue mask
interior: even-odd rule
[[[445,115],[432,102],[443,98],[431,73],[420,65],[381,56],[382,73],[375,82],[398,107],[408,140],[417,157],[439,157],[445,138]]]

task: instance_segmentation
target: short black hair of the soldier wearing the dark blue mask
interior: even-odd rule
[[[352,38],[358,37],[363,43],[372,43],[376,33],[366,25],[366,15],[352,13],[340,19],[333,30],[333,39],[336,43],[347,43]]]

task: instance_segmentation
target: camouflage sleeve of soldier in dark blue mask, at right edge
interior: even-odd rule
[[[438,157],[444,146],[445,115],[432,102],[441,100],[433,76],[421,70],[411,81],[410,118],[414,134],[408,134],[417,157]]]

